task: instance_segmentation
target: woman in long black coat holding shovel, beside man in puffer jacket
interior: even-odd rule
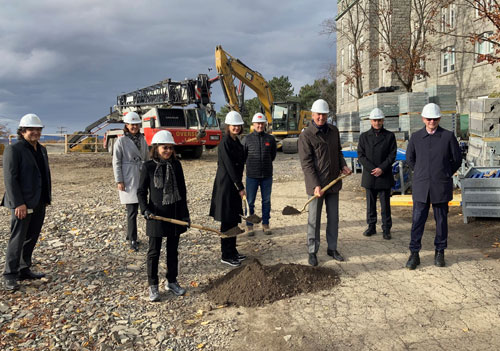
[[[210,213],[221,222],[221,232],[226,232],[241,223],[243,214],[242,199],[246,196],[243,186],[245,155],[238,136],[243,132],[243,118],[236,111],[230,111],[224,121],[224,137],[217,153],[217,172],[215,174]],[[221,238],[221,262],[232,267],[241,265],[246,256],[236,249],[236,237]]]

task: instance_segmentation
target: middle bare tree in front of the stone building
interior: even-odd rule
[[[436,31],[437,16],[446,0],[366,0],[371,29],[379,36],[378,48],[372,50],[386,64],[406,89],[412,91],[415,76],[429,76],[425,59],[436,50],[430,34]]]

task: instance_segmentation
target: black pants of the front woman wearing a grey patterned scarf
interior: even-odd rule
[[[167,278],[169,283],[174,283],[177,281],[178,274],[178,251],[179,247],[178,234],[169,234],[166,240],[167,246]],[[160,261],[160,251],[162,237],[149,237],[149,249],[147,255],[147,270],[148,270],[148,284],[158,285],[158,262]]]

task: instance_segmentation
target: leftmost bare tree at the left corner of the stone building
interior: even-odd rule
[[[323,22],[323,34],[337,34],[337,42],[345,40],[348,45],[346,57],[341,54],[337,62],[336,77],[342,77],[345,85],[352,86],[354,97],[363,96],[362,61],[368,58],[368,18],[364,9],[364,1],[339,3],[340,15],[337,19],[330,18]]]

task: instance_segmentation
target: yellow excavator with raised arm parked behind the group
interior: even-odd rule
[[[296,153],[298,136],[311,120],[311,112],[301,111],[297,98],[289,98],[284,102],[274,101],[269,84],[262,74],[231,56],[220,45],[215,48],[215,67],[229,107],[241,112],[244,88],[248,86],[257,94],[278,148],[284,153]],[[238,88],[235,78],[239,80]]]

